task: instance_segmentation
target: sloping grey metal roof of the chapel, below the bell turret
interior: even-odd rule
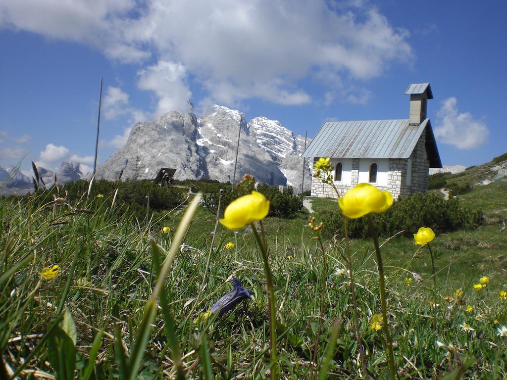
[[[303,157],[408,159],[426,131],[430,167],[442,167],[429,119],[420,125],[405,120],[327,122],[303,153]]]

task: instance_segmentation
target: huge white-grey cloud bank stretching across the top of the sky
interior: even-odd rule
[[[188,110],[188,78],[216,102],[304,104],[308,78],[361,82],[412,57],[408,32],[360,0],[17,0],[0,5],[7,25],[90,44],[124,63],[155,57],[138,86],[157,95],[157,115]]]

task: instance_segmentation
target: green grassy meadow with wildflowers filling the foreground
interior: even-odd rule
[[[185,214],[194,195],[138,220],[118,211],[114,193],[92,188],[78,201],[63,189],[47,201],[40,193],[0,204],[0,379],[270,377],[266,276],[251,230],[219,224],[212,234],[210,211],[198,206]],[[507,290],[507,232],[499,232],[505,194],[507,182],[496,181],[459,196],[484,212],[485,223],[436,236],[434,278],[426,246],[406,236],[381,238],[397,378],[507,378],[507,299],[500,293]],[[317,222],[338,207],[308,199]],[[284,379],[365,378],[345,242],[320,244],[306,226],[311,215],[303,209],[263,221],[276,370]],[[380,314],[372,241],[352,240],[350,254],[367,376],[387,378],[385,339],[371,324]],[[54,264],[56,276],[41,275]],[[253,296],[223,316],[202,318],[231,290],[233,276]],[[483,276],[489,283],[475,290]]]

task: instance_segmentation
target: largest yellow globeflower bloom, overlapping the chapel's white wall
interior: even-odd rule
[[[369,183],[359,183],[339,198],[338,204],[343,215],[356,219],[370,212],[384,212],[392,206],[392,195]]]

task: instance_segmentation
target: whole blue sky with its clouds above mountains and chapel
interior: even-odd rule
[[[0,0],[0,165],[93,166],[136,121],[213,104],[313,137],[324,121],[406,119],[430,82],[442,163],[507,151],[507,3]],[[171,148],[171,147],[168,147]]]

